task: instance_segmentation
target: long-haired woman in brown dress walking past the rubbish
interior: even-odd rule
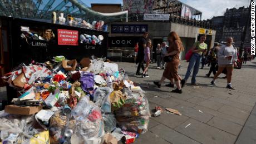
[[[165,56],[172,56],[170,62],[167,62],[167,66],[163,73],[163,76],[159,82],[154,82],[157,87],[161,87],[161,83],[167,78],[171,81],[173,78],[177,88],[171,92],[182,93],[181,85],[180,85],[180,76],[178,75],[178,67],[180,64],[180,52],[184,50],[180,37],[176,32],[171,32],[168,35],[168,41],[170,46],[168,48],[168,52]]]

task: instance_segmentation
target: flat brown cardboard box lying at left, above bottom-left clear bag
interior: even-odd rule
[[[8,105],[4,108],[4,112],[16,115],[33,115],[42,110],[42,106],[16,106]]]

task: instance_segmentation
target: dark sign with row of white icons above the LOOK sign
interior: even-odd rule
[[[147,24],[111,24],[111,33],[143,33]]]

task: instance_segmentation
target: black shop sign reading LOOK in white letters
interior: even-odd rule
[[[110,47],[134,47],[140,37],[109,37]]]

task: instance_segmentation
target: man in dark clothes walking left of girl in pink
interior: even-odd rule
[[[142,75],[142,73],[140,73],[140,68],[144,71],[144,48],[146,47],[146,39],[148,35],[148,32],[144,32],[143,36],[139,39],[139,51],[136,59],[136,63],[138,63],[136,75]]]

